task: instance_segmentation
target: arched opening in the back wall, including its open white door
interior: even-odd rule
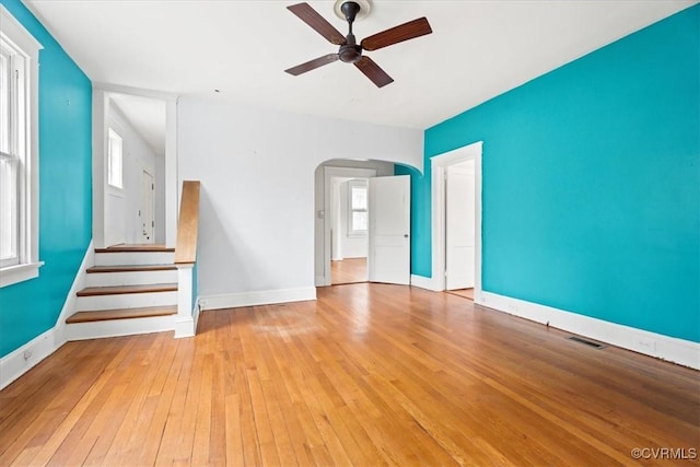
[[[410,280],[410,179],[394,163],[331,160],[316,168],[315,284]]]

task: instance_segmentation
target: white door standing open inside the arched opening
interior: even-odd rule
[[[370,178],[370,282],[408,285],[410,282],[410,177]]]

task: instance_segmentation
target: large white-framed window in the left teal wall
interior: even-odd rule
[[[0,5],[0,287],[38,276],[38,51]]]

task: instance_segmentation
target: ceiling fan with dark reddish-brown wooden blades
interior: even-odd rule
[[[337,54],[324,55],[323,57],[315,58],[305,63],[290,68],[289,70],[284,70],[295,77],[318,67],[323,67],[324,65],[340,60],[346,63],[353,63],[358,70],[362,71],[365,77],[376,84],[377,87],[382,87],[394,80],[392,77],[386,74],[386,72],[382,70],[374,60],[368,56],[363,56],[362,50],[377,50],[383,47],[412,39],[415,37],[420,37],[433,32],[430,28],[428,20],[425,17],[419,17],[418,20],[409,21],[408,23],[404,23],[365,37],[360,42],[360,44],[358,44],[355,42],[354,34],[352,34],[352,23],[361,9],[358,2],[346,1],[340,5],[340,11],[346,16],[349,30],[348,35],[345,37],[340,32],[338,32],[338,30],[318,14],[316,10],[311,8],[308,3],[293,4],[287,7],[287,9],[299,16],[304,23],[313,27],[318,34],[324,36],[326,40],[340,46]]]

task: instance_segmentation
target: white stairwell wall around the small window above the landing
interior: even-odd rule
[[[117,190],[107,187],[105,244],[109,246],[121,242],[142,243],[141,221],[139,218],[142,173],[147,171],[156,178],[156,155],[119,108],[112,103],[107,110],[107,126],[119,133],[122,139],[124,188]],[[156,197],[155,211],[162,210],[162,208],[159,208],[162,206],[158,205]],[[120,226],[122,226],[124,233],[116,234]],[[159,229],[156,224],[155,230],[156,232],[163,230],[163,226]]]

